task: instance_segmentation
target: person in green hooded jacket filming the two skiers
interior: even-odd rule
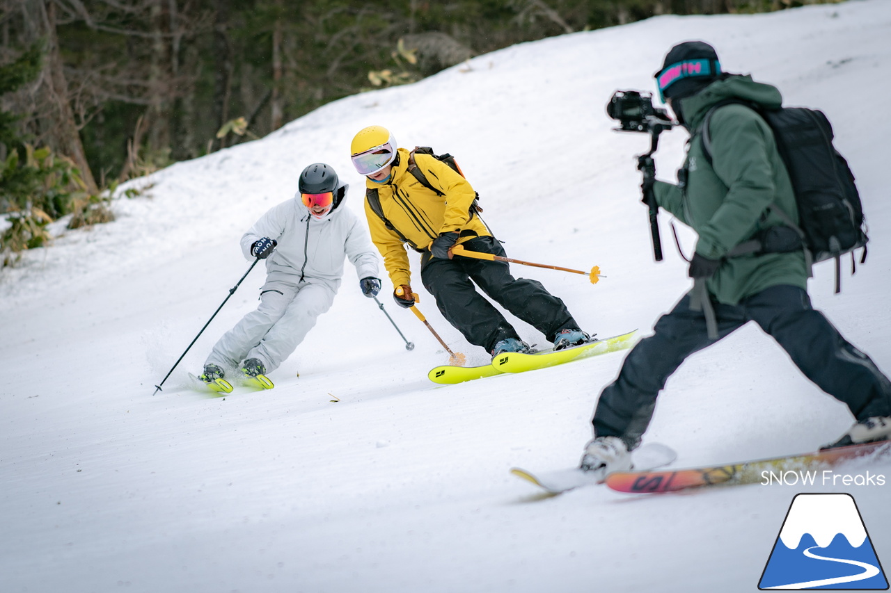
[[[656,80],[691,141],[678,175],[683,183],[645,175],[642,189],[699,235],[688,272],[694,288],[658,320],[652,336],[628,353],[616,380],[601,392],[594,438],[585,446],[580,467],[601,475],[631,467],[629,451],[641,443],[667,378],[692,353],[748,321],[773,337],[805,377],[851,411],[854,426],[831,446],[887,439],[891,382],[811,306],[804,250],[732,254],[765,229],[780,229],[784,221],[772,206],[798,223],[795,195],[772,130],[755,110],[739,102],[716,107],[709,121],[711,159],[703,150],[701,125],[727,99],[779,108],[780,91],[748,75],[723,73],[715,49],[701,41],[675,45]]]

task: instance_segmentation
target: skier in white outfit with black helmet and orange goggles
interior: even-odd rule
[[[202,381],[212,384],[227,371],[256,378],[277,369],[331,308],[345,256],[356,266],[364,296],[377,296],[377,252],[368,230],[342,207],[348,187],[328,165],[310,165],[300,174],[298,194],[244,233],[244,256],[266,259],[260,305],[217,341]]]

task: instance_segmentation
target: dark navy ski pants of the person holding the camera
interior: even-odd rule
[[[602,392],[594,410],[594,435],[640,443],[650,424],[659,391],[692,353],[714,342],[702,311],[692,311],[690,294],[656,323],[625,357],[616,380]],[[870,357],[849,344],[825,315],[811,306],[807,292],[794,286],[765,288],[739,305],[715,304],[718,338],[755,321],[773,337],[798,369],[858,420],[891,416],[891,383]],[[717,341],[717,340],[715,340]]]

